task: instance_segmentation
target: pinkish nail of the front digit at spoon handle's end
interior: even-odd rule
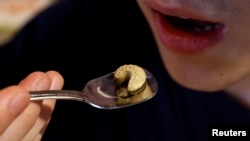
[[[10,101],[9,110],[13,116],[19,115],[29,103],[29,98],[23,91],[18,91],[13,94]]]

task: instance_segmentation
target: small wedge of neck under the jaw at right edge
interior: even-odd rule
[[[225,91],[250,109],[250,76],[228,87]]]

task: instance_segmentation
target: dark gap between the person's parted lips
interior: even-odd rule
[[[217,29],[221,26],[219,23],[199,21],[194,19],[182,19],[173,16],[165,16],[165,19],[175,28],[188,32],[204,33]]]

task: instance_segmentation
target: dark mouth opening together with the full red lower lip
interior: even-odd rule
[[[166,48],[185,54],[197,54],[220,41],[225,32],[222,23],[175,17],[154,12],[156,31]]]

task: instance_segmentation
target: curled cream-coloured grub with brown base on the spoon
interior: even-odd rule
[[[136,103],[152,96],[143,68],[128,64],[120,66],[114,73],[118,104]]]

